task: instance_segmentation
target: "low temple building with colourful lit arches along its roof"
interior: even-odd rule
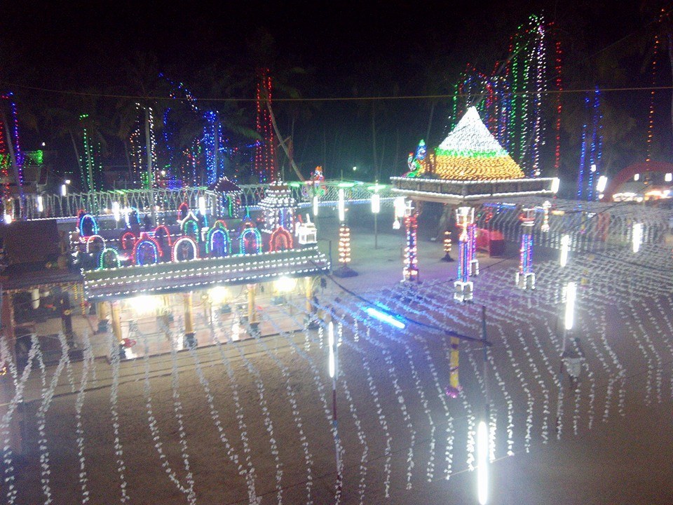
[[[184,346],[190,346],[198,340],[195,305],[211,322],[213,311],[233,312],[241,332],[252,336],[268,332],[257,314],[261,292],[299,292],[310,312],[318,276],[329,272],[330,264],[318,251],[315,227],[313,233],[310,227],[295,227],[297,202],[287,185],[268,187],[258,219],[248,211],[238,217],[241,194],[233,182],[220,179],[210,194],[217,198],[208,204],[200,200],[198,209],[181,203],[173,213],[161,214],[156,225],[137,208],[118,208],[115,219],[105,220],[104,226],[86,210],[76,220],[43,220],[42,227],[53,235],[50,241],[57,240],[58,229],[64,238],[62,268],[56,267],[56,255],[53,275],[44,276],[43,265],[39,267],[40,278],[46,279],[39,285],[31,281],[36,276],[26,273],[1,278],[4,314],[11,317],[13,299],[23,299],[22,292],[46,292],[53,277],[69,287],[63,291],[68,303],[81,302],[75,309],[85,318],[95,314],[95,330],[111,325],[121,354],[132,356],[137,325],[125,321],[135,314],[156,316],[153,331],[172,321],[172,331],[184,334]],[[10,236],[25,224],[5,227],[6,243],[25,242]],[[57,250],[58,245],[50,248]]]

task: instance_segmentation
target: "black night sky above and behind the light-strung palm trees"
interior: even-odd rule
[[[496,61],[506,57],[517,26],[533,13],[555,20],[566,52],[568,81],[582,81],[584,86],[642,86],[651,81],[643,62],[660,6],[630,1],[519,1],[513,5],[491,1],[456,7],[451,2],[400,0],[197,4],[6,4],[0,35],[1,86],[13,90],[28,109],[31,102],[45,107],[60,94],[25,86],[134,95],[137,91],[129,85],[126,69],[140,52],[156,55],[159,69],[184,82],[197,97],[222,97],[210,94],[208,79],[199,73],[210,67],[218,69],[215,73],[226,71],[231,81],[240,81],[227,96],[251,98],[254,86],[247,85],[246,79],[259,64],[250,46],[266,32],[275,42],[266,63],[303,97],[445,94],[468,62],[490,72]],[[614,68],[606,68],[611,60]],[[293,67],[305,72],[292,74]],[[276,97],[283,97],[283,90],[277,90]],[[660,97],[662,104],[664,98],[669,100]],[[608,98],[627,107],[644,106],[646,99],[642,93]],[[102,99],[108,107],[112,100]],[[250,104],[240,106],[250,108]],[[318,163],[328,168],[371,163],[371,140],[365,138],[371,129],[367,115],[371,105],[311,102],[303,106],[306,110],[295,125],[302,170]],[[39,111],[30,112],[39,129]],[[403,165],[406,152],[425,135],[429,105],[427,100],[386,102],[381,114],[385,126],[381,126],[383,152],[379,155],[393,170],[393,165]],[[436,114],[430,135],[435,143],[445,133],[446,104],[440,103]],[[646,121],[646,111],[632,115],[638,123]],[[252,111],[248,116],[254,127]],[[290,128],[289,114],[280,102],[278,116],[281,128]],[[573,133],[567,135],[571,145]],[[45,128],[39,135],[28,129],[25,133],[28,143],[48,136]]]

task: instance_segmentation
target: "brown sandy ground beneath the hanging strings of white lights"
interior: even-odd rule
[[[334,223],[321,224],[335,247]],[[360,275],[337,281],[421,325],[372,320],[363,299],[332,282],[319,293],[340,323],[336,431],[325,331],[276,325],[280,335],[145,358],[157,338],[149,335],[118,372],[101,358],[88,373],[84,363],[42,371],[35,362],[27,452],[6,454],[2,496],[17,504],[476,503],[474,430],[488,391],[489,503],[673,503],[669,274],[627,278],[623,264],[603,257],[559,269],[541,252],[530,292],[513,285],[517,260],[480,257],[475,303],[458,304],[456,264],[438,260],[441,244],[419,243],[423,283],[410,288],[399,282],[402,231],[386,230],[374,250],[367,230],[353,228]],[[571,335],[585,354],[573,392],[558,373],[557,316],[560,288],[580,282],[578,267],[589,273]],[[292,304],[289,321],[299,323],[303,303]],[[479,337],[482,304],[493,343],[487,375],[480,344],[463,344],[463,393],[448,398],[443,329]],[[216,324],[213,335],[227,342],[229,332]],[[95,338],[106,345],[107,336]]]

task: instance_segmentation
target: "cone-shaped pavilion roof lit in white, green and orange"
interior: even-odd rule
[[[456,128],[435,149],[433,159],[426,158],[423,174],[428,172],[445,180],[503,180],[524,177],[523,170],[503,149],[482,119],[476,107],[458,121]]]

